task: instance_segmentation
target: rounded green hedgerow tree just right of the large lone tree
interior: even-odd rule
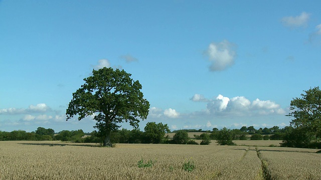
[[[147,122],[143,133],[144,143],[162,143],[166,140],[165,134],[171,130],[167,124],[159,122]]]

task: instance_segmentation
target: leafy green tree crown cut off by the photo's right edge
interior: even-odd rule
[[[321,137],[321,90],[319,87],[304,90],[302,97],[291,100],[288,116],[293,117],[290,122],[295,128],[312,132]]]

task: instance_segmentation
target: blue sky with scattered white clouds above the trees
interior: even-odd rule
[[[284,127],[320,86],[318,0],[0,0],[0,130],[95,130],[66,108],[93,69],[124,69],[171,130]],[[119,124],[131,129],[128,123]]]

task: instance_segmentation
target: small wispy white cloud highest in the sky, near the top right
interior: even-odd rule
[[[309,19],[309,14],[306,12],[302,12],[300,15],[297,16],[286,16],[281,19],[283,25],[289,27],[300,27],[307,24]]]

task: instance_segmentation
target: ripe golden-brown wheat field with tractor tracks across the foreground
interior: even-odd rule
[[[0,141],[0,179],[319,179],[317,149]],[[149,167],[137,162],[152,161]],[[183,164],[192,162],[187,171]]]

